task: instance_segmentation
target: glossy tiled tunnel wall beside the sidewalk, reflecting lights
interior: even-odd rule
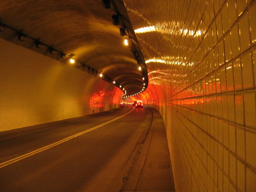
[[[175,188],[256,191],[256,1],[124,0]]]

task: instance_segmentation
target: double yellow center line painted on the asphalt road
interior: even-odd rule
[[[95,130],[95,129],[99,128],[99,127],[102,127],[102,126],[104,126],[104,125],[106,125],[106,124],[109,124],[109,123],[111,123],[111,122],[113,122],[113,121],[116,121],[116,120],[118,120],[118,119],[120,119],[120,118],[122,118],[122,117],[128,115],[128,114],[129,114],[130,112],[132,112],[133,110],[134,110],[134,108],[133,108],[132,110],[130,110],[129,112],[127,112],[127,113],[125,113],[125,114],[123,114],[123,115],[121,115],[121,116],[119,116],[119,117],[116,117],[116,118],[114,118],[114,119],[112,119],[112,120],[110,120],[110,121],[108,121],[108,122],[102,123],[102,124],[100,124],[100,125],[97,125],[97,126],[95,126],[95,127],[93,127],[93,128],[90,128],[90,129],[88,129],[88,130],[82,131],[82,132],[80,132],[80,133],[74,134],[74,135],[72,135],[72,136],[69,136],[69,137],[64,138],[64,139],[62,139],[62,140],[59,140],[59,141],[57,141],[57,142],[55,142],[55,143],[52,143],[52,144],[47,145],[47,146],[44,146],[44,147],[42,147],[42,148],[39,148],[39,149],[37,149],[37,150],[34,150],[34,151],[29,152],[29,153],[27,153],[27,154],[24,154],[24,155],[22,155],[22,156],[18,156],[18,157],[16,157],[16,158],[11,159],[11,160],[2,162],[2,163],[0,163],[0,168],[3,168],[3,167],[5,167],[5,166],[8,166],[8,165],[13,164],[13,163],[15,163],[15,162],[18,162],[18,161],[20,161],[20,160],[22,160],[22,159],[24,159],[24,158],[30,157],[30,156],[32,156],[32,155],[34,155],[34,154],[40,153],[40,152],[42,152],[42,151],[44,151],[44,150],[50,149],[50,148],[52,148],[52,147],[54,147],[54,146],[57,146],[57,145],[59,145],[59,144],[62,144],[62,143],[64,143],[64,142],[66,142],[66,141],[68,141],[68,140],[71,140],[71,139],[73,139],[73,138],[76,138],[76,137],[78,137],[78,136],[80,136],[80,135],[82,135],[82,134],[91,132],[92,130]]]

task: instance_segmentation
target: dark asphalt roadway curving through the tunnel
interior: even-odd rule
[[[150,108],[126,114],[131,110],[119,108],[0,140],[0,192],[110,191],[152,121]]]

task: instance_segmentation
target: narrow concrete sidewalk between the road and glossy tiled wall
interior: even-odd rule
[[[128,176],[123,179],[119,192],[174,192],[174,178],[166,138],[164,120],[159,112],[152,109],[153,120],[137,155],[131,156]],[[135,160],[135,161],[134,161]],[[119,188],[120,189],[120,188]],[[110,191],[116,191],[114,188]]]

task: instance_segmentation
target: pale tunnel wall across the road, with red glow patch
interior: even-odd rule
[[[0,131],[118,107],[122,91],[74,66],[0,39]]]

